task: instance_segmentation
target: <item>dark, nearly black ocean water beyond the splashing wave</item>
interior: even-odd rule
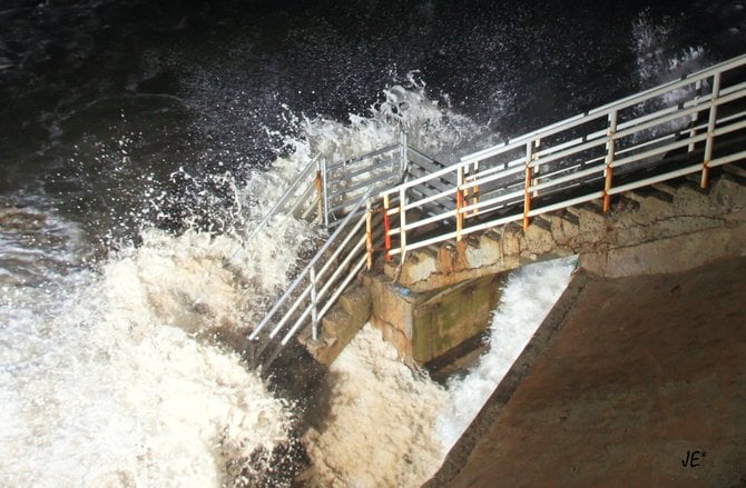
[[[738,1],[4,1],[0,190],[131,207],[143,178],[178,192],[179,167],[267,165],[298,117],[365,116],[409,73],[517,135],[658,82],[687,50],[740,53],[745,17]]]

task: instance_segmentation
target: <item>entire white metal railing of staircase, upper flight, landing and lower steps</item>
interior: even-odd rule
[[[726,117],[718,110],[732,101],[746,99],[746,82],[722,87],[723,73],[745,66],[746,54],[465,155],[458,162],[432,172],[426,171],[442,163],[411,147],[404,132],[399,143],[342,162],[327,163],[317,156],[301,171],[271,213],[282,209],[284,202],[297,193],[300,181],[307,180],[317,166],[314,181],[321,187],[317,187],[316,199],[320,220],[334,231],[248,338],[256,339],[271,322],[274,328],[268,336],[274,338],[294,320],[282,339],[285,345],[310,320],[312,338],[317,339],[318,323],[325,313],[365,263],[369,268],[372,266],[376,252],[371,241],[374,211],[382,210],[386,259],[401,255],[403,261],[405,253],[414,249],[450,239],[458,241],[472,232],[514,221],[522,220],[526,229],[536,216],[596,199],[602,199],[603,210],[608,211],[612,195],[684,175],[701,172],[704,188],[710,168],[746,158],[746,151],[735,150],[713,158],[717,137],[746,129],[746,109],[739,108]],[[694,88],[693,93],[675,107],[646,106],[683,88]],[[628,113],[630,109],[634,110]],[[699,119],[700,113],[707,117]],[[673,122],[686,123],[665,133],[651,132]],[[599,129],[601,125],[603,129]],[[662,169],[659,175],[615,185],[615,172],[620,169],[634,169],[636,165],[651,169],[667,152],[687,148],[691,153],[696,145],[703,143],[701,162]],[[422,158],[426,163],[421,162],[423,166],[418,169],[425,175],[410,179],[408,169],[412,157]],[[381,158],[385,165],[381,165]],[[391,180],[397,183],[380,190],[380,185]],[[598,187],[588,187],[589,182]],[[365,190],[362,196],[361,190]],[[572,190],[570,196],[561,193],[567,190]],[[304,192],[302,199],[308,195]],[[548,196],[560,199],[543,201]],[[366,211],[361,215],[364,203]],[[302,202],[296,202],[293,208],[300,205]],[[493,213],[495,210],[501,213]],[[336,212],[343,212],[340,220],[334,220]],[[253,235],[263,229],[269,218],[265,217]],[[412,235],[415,229],[439,221],[451,223],[424,237]],[[365,233],[361,230],[364,225]],[[399,237],[397,248],[392,248],[393,237]],[[337,259],[341,265],[334,267]]]

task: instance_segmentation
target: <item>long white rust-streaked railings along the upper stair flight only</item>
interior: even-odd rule
[[[509,221],[523,220],[523,227],[527,228],[532,217],[597,198],[603,200],[603,210],[608,211],[610,196],[620,192],[614,185],[615,171],[628,170],[631,168],[630,165],[644,165],[648,159],[661,159],[667,152],[676,149],[688,147],[688,152],[691,152],[695,145],[703,142],[706,146],[703,162],[685,169],[664,170],[662,175],[641,178],[639,185],[625,182],[624,187],[619,188],[626,190],[639,188],[639,186],[650,185],[650,181],[654,180],[658,182],[698,171],[703,173],[701,186],[705,187],[710,168],[730,162],[743,153],[742,151],[717,159],[711,158],[713,146],[717,137],[743,130],[746,126],[746,121],[743,120],[746,117],[746,110],[739,109],[737,113],[728,117],[722,117],[722,111],[718,110],[727,103],[746,98],[746,82],[722,87],[723,73],[745,66],[746,54],[534,130],[492,148],[467,155],[454,165],[381,191],[376,205],[380,201],[385,209],[389,222],[385,229],[386,241],[390,242],[393,237],[399,237],[400,240],[397,249],[386,249],[386,258],[402,255],[401,259],[403,259],[408,250],[449,239],[458,241],[469,233]],[[708,87],[707,93],[703,93],[704,84]],[[654,108],[651,113],[645,113],[642,103],[651,103],[659,97],[678,92],[683,88],[694,88],[694,90],[690,90],[687,98],[679,101],[676,107]],[[630,108],[636,108],[642,113],[622,113],[622,110]],[[699,113],[709,113],[709,120],[694,123]],[[620,120],[622,117],[627,120]],[[606,129],[598,130],[598,123],[601,121],[606,125]],[[675,122],[681,125],[686,122],[686,127],[673,127],[665,131],[665,135],[650,132]],[[581,130],[583,126],[589,125],[595,125],[595,127],[583,132]],[[547,139],[550,139],[549,143]],[[624,147],[621,147],[622,143]],[[523,156],[519,156],[519,152],[522,152]],[[500,159],[501,156],[508,159]],[[474,169],[480,163],[482,166]],[[468,177],[467,173],[469,173]],[[537,196],[557,195],[593,180],[600,181],[601,186],[598,189],[585,190],[587,195],[578,196],[576,190],[572,197],[563,198],[563,201],[536,206]],[[418,195],[423,195],[422,198],[419,198],[410,191],[426,186],[430,181],[438,181],[439,186],[448,181],[455,183],[449,185],[450,193],[448,189],[434,195],[419,192]],[[479,195],[481,189],[489,188],[489,186],[505,188],[501,181],[514,186],[516,189],[508,192],[500,191],[492,196],[489,192]],[[492,192],[494,193],[494,190]],[[482,190],[482,193],[485,192]],[[441,206],[445,207],[444,209],[432,207],[432,202],[444,201],[444,199],[448,200]],[[540,202],[541,199],[538,201]],[[522,205],[517,207],[519,202]],[[489,219],[488,215],[488,221],[467,223],[477,215],[485,215],[502,208],[510,215],[503,212],[494,219]],[[408,212],[415,209],[419,210],[419,215],[410,221]],[[395,216],[397,219],[394,219]],[[421,240],[414,240],[410,236],[414,229],[439,220],[452,220],[455,229],[453,227],[443,228],[440,235],[432,236],[431,233],[426,239]]]

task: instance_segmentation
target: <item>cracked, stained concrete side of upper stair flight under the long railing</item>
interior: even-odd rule
[[[573,253],[614,255],[621,248],[657,241],[662,250],[666,239],[686,235],[697,239],[705,231],[716,231],[719,245],[727,249],[742,237],[746,240],[742,235],[746,191],[733,177],[713,179],[707,190],[688,180],[659,187],[666,192],[656,195],[660,190],[646,189],[644,195],[617,197],[608,213],[602,213],[596,202],[588,202],[538,217],[526,231],[508,223],[455,245],[415,250],[403,263],[385,266],[384,272],[402,287],[425,292],[536,260]],[[730,238],[722,229],[727,229]]]

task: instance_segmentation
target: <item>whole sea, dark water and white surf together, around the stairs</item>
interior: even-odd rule
[[[257,222],[317,153],[345,160],[403,129],[453,161],[694,71],[746,31],[740,2],[700,6],[736,19],[707,46],[674,43],[690,32],[675,17],[617,4],[618,36],[606,12],[567,10],[583,36],[563,38],[568,19],[543,3],[546,26],[530,2],[504,18],[438,1],[386,16],[350,2],[313,21],[249,8],[236,23],[238,3],[253,6],[0,10],[1,486],[291,486],[297,470],[311,486],[420,486],[573,258],[511,275],[464,377],[435,384],[366,326],[331,367],[328,401],[298,405],[234,346],[324,232],[278,216],[248,239]],[[305,408],[323,420],[298,431]]]

